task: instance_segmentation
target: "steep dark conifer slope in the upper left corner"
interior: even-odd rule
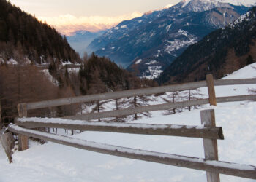
[[[0,0],[0,63],[80,62],[75,50],[54,28]]]

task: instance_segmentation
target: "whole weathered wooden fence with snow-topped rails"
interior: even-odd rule
[[[35,103],[20,103],[18,105],[19,118],[15,119],[15,124],[10,124],[8,130],[18,133],[19,149],[28,148],[28,137],[39,138],[46,141],[61,143],[67,146],[74,146],[89,151],[97,151],[103,154],[111,154],[132,159],[158,162],[167,165],[188,167],[196,170],[205,170],[208,181],[219,181],[219,173],[235,175],[243,178],[256,179],[256,167],[250,165],[237,165],[229,162],[219,162],[217,152],[217,139],[224,139],[222,128],[216,127],[214,110],[201,111],[201,122],[204,127],[180,126],[170,124],[121,124],[105,122],[89,122],[92,119],[124,116],[137,114],[145,111],[168,110],[170,108],[180,108],[187,106],[203,105],[210,103],[216,106],[217,103],[234,102],[243,100],[256,100],[256,95],[240,95],[232,97],[216,98],[214,86],[233,84],[256,84],[256,79],[225,79],[214,80],[212,75],[206,76],[206,81],[192,82],[186,84],[175,84],[162,87],[153,87],[138,90],[127,90],[120,92],[109,92],[97,95],[86,95],[73,98],[61,98],[56,100],[45,100]],[[105,111],[94,114],[81,114],[69,116],[64,119],[38,119],[27,118],[27,112],[31,109],[49,108],[53,106],[65,106],[74,103],[86,103],[99,100],[119,99],[136,97],[141,95],[153,95],[164,92],[176,92],[183,90],[193,90],[199,87],[208,87],[207,99],[189,100],[178,103],[165,103],[152,106],[140,106],[126,108],[116,111]],[[87,120],[87,122],[72,122],[71,120]],[[173,135],[181,137],[203,138],[205,159],[195,157],[182,157],[173,154],[162,154],[152,151],[141,151],[137,149],[127,149],[120,146],[110,146],[102,143],[83,141],[67,136],[54,135],[46,132],[31,130],[37,127],[56,127],[70,130],[92,130],[105,132],[124,132],[143,135]]]

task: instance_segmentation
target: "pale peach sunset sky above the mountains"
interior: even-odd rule
[[[122,20],[140,17],[181,0],[10,0],[25,12],[70,36],[75,31],[100,31]]]

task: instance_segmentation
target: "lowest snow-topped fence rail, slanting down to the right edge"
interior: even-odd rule
[[[222,173],[225,175],[234,175],[242,178],[256,179],[256,167],[252,165],[238,165],[230,162],[209,161],[197,157],[185,157],[174,154],[130,149],[121,146],[112,146],[103,143],[84,141],[78,138],[69,138],[67,136],[24,129],[22,127],[18,127],[15,124],[9,124],[8,130],[10,132],[26,135],[28,137],[38,138],[54,143],[60,143],[66,146],[73,146],[78,149],[95,151],[102,154],[110,154],[118,157],[127,157],[130,159],[140,159],[143,161],[157,162],[165,165],[174,165],[178,167],[187,167],[211,173]]]

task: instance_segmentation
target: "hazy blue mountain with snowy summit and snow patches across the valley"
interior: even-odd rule
[[[232,23],[247,10],[215,0],[183,0],[168,9],[119,23],[88,48],[139,76],[154,79],[189,45]]]

